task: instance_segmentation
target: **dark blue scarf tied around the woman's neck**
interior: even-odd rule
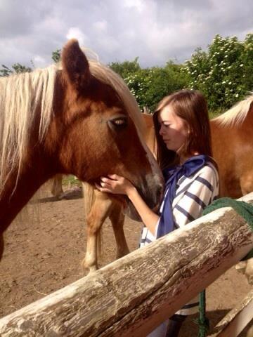
[[[181,166],[174,166],[170,169],[164,169],[165,192],[164,205],[160,213],[160,222],[157,228],[157,239],[174,230],[174,218],[171,210],[172,201],[176,196],[176,183],[182,176],[187,178],[202,169],[207,161],[212,159],[205,155],[191,157]]]

